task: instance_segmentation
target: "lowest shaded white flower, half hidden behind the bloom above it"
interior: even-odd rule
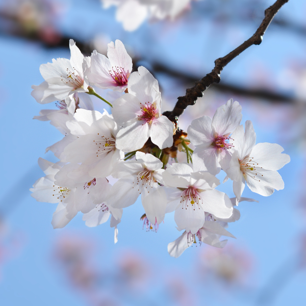
[[[241,201],[256,201],[250,198],[241,198]],[[236,205],[236,198],[231,198],[232,205]],[[257,202],[257,201],[256,201]],[[227,236],[235,238],[231,233],[225,230],[228,227],[228,222],[235,222],[240,219],[240,212],[237,209],[233,209],[233,215],[228,219],[217,218],[212,214],[205,214],[205,222],[203,226],[198,230],[196,234],[187,233],[186,231],[176,240],[168,244],[168,252],[172,257],[179,257],[182,253],[192,244],[196,244],[198,239],[199,244],[206,243],[211,246],[223,248],[227,240],[220,241],[221,236]]]

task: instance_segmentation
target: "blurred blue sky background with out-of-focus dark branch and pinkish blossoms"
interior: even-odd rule
[[[118,3],[120,1],[118,0]],[[123,1],[122,1],[123,2]],[[144,2],[144,0],[142,0]],[[185,1],[184,3],[187,3]],[[157,233],[142,230],[141,203],[124,211],[118,243],[108,224],[88,228],[81,216],[53,230],[55,206],[36,202],[29,188],[42,176],[39,157],[61,139],[46,122],[32,120],[44,107],[30,95],[42,82],[39,66],[69,58],[69,39],[84,55],[106,54],[120,39],[133,58],[158,79],[163,111],[209,73],[214,60],[248,39],[273,0],[202,0],[171,17],[144,18],[135,31],[117,21],[117,7],[99,0],[0,0],[0,101],[2,189],[0,296],[4,305],[288,305],[302,304],[305,287],[306,4],[289,0],[263,43],[228,64],[221,82],[179,119],[212,116],[238,100],[243,122],[253,121],[257,142],[277,142],[291,156],[280,171],[285,189],[257,202],[242,202],[232,239],[222,249],[202,244],[173,259],[172,216]],[[117,19],[116,19],[117,18]],[[100,90],[110,101],[117,96]],[[93,98],[96,110],[110,109]],[[55,104],[49,108],[56,109]],[[179,160],[185,155],[179,153]],[[219,175],[220,181],[223,177]],[[230,197],[231,183],[221,186]],[[253,196],[245,191],[244,196]],[[302,213],[301,213],[302,212]]]

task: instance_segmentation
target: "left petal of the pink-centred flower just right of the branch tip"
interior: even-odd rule
[[[212,132],[212,119],[208,116],[203,116],[191,121],[187,129],[188,138],[195,146],[206,148],[214,141]]]

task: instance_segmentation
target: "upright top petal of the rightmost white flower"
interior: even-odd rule
[[[243,160],[256,144],[256,134],[252,122],[245,121],[245,132],[242,125],[237,126],[231,138],[233,138],[232,144],[237,152],[237,157]]]

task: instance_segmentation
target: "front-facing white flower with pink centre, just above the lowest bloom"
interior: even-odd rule
[[[233,213],[230,198],[218,190],[219,180],[212,174],[193,172],[185,163],[167,165],[163,172],[167,192],[166,213],[175,210],[174,220],[180,230],[196,234],[205,222],[205,213],[229,218]],[[175,188],[174,188],[175,187]]]

